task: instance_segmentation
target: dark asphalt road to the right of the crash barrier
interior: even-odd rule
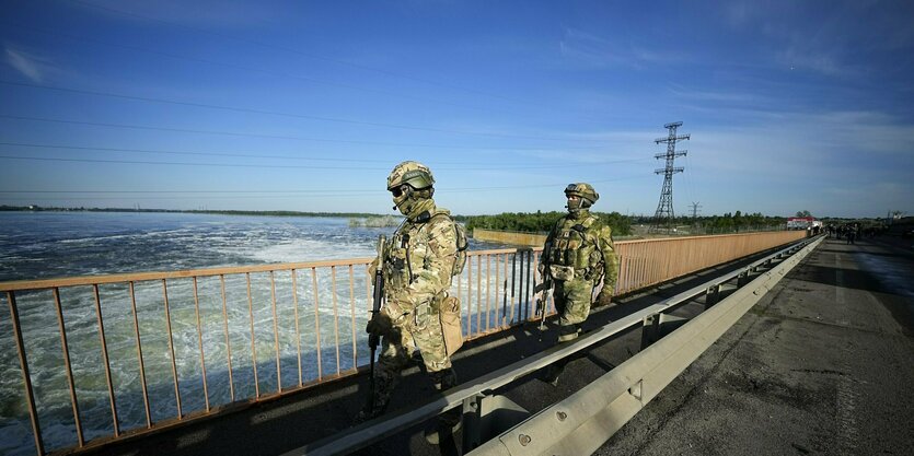
[[[826,239],[597,454],[914,454],[907,244]]]

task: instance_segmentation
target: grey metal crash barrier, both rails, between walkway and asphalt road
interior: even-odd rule
[[[464,383],[413,410],[385,416],[301,448],[296,455],[347,454],[429,420],[463,409],[463,452],[481,455],[592,454],[682,373],[822,237],[798,242],[737,271],[592,330],[574,342]],[[705,311],[683,320],[670,315],[701,300]],[[643,328],[643,350],[569,398],[530,414],[493,391],[629,328]],[[471,452],[472,451],[472,452]]]

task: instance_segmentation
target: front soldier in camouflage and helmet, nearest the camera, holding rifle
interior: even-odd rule
[[[433,183],[431,171],[417,162],[396,165],[387,177],[387,190],[406,220],[383,247],[380,267],[385,304],[366,327],[369,334],[381,336],[381,354],[374,370],[373,404],[359,412],[357,422],[384,412],[415,349],[421,352],[425,371],[439,391],[456,385],[439,318],[439,305],[451,288],[456,232],[450,212],[435,206]],[[437,443],[439,432],[455,430],[460,414],[460,409],[452,409],[439,417],[426,431],[429,442]]]

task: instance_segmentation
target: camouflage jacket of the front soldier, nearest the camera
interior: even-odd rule
[[[398,306],[403,313],[433,304],[451,288],[458,249],[454,222],[446,217],[449,211],[428,201],[384,246],[384,296],[389,307]]]

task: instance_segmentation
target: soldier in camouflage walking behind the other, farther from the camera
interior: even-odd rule
[[[558,343],[574,340],[590,314],[593,289],[603,288],[594,306],[610,305],[618,277],[618,258],[613,246],[612,229],[590,207],[600,196],[590,184],[570,184],[565,188],[568,215],[553,226],[543,246],[540,272],[553,280],[558,312]],[[553,364],[545,379],[557,385],[567,360]]]

